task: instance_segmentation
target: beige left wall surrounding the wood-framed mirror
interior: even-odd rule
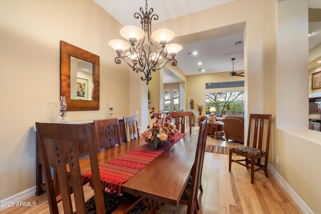
[[[61,119],[60,40],[100,56],[100,110],[66,120],[107,118],[109,100],[114,116],[129,115],[130,71],[108,46],[121,27],[93,1],[0,1],[0,200],[36,184],[32,125]]]

